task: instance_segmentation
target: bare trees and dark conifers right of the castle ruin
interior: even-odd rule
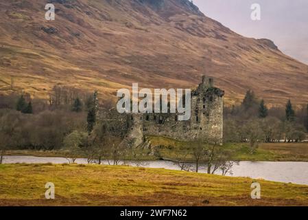
[[[307,138],[308,104],[295,109],[288,100],[283,107],[268,108],[248,90],[238,106],[224,108],[224,142],[302,142]]]

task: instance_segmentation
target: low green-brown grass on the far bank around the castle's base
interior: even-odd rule
[[[150,137],[153,146],[163,145],[159,149],[161,157],[165,159],[178,159],[182,152],[182,142],[165,137]],[[248,144],[224,144],[224,148],[233,150],[232,159],[235,161],[293,161],[308,162],[308,143],[270,143],[260,144],[257,152],[250,153]],[[32,155],[37,157],[64,157],[63,151],[6,151],[5,155]],[[85,157],[85,155],[80,155]],[[146,156],[144,159],[156,159],[154,156]],[[193,160],[189,155],[187,160]]]

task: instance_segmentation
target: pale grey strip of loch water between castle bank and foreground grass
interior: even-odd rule
[[[130,166],[139,168],[162,168],[165,170],[182,171],[184,173],[196,173],[196,164],[194,162],[185,163],[185,170],[182,164],[172,160],[122,160],[114,164],[112,159],[102,159],[101,164],[95,160],[88,163],[86,158],[78,158],[72,161],[67,157],[36,157],[33,155],[8,155],[3,158],[3,165],[25,165],[25,166],[56,166],[56,165],[79,165],[79,166]],[[262,162],[262,161],[241,161],[233,162],[233,167],[228,177],[250,177],[254,179],[265,179],[268,181],[277,181],[281,183],[294,183],[308,186],[307,176],[308,162]],[[206,163],[199,163],[199,172],[207,173]],[[294,175],[292,170],[298,170],[301,175]],[[291,171],[290,171],[291,170]],[[216,170],[214,175],[222,176],[222,170]]]

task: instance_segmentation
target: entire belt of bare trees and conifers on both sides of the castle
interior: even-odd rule
[[[112,104],[104,103],[106,109]],[[96,119],[93,94],[55,86],[47,102],[29,94],[0,96],[1,155],[8,149],[61,150],[72,162],[83,155],[89,163],[110,159],[112,164],[155,155],[155,146],[133,148],[133,140],[123,142],[107,128],[108,124]],[[251,153],[259,142],[301,142],[307,129],[308,105],[295,109],[291,100],[285,108],[269,109],[265,100],[249,90],[241,104],[224,107],[224,142],[248,142]],[[193,156],[196,172],[201,161],[207,163],[208,173],[222,170],[225,175],[233,165],[231,153],[218,144],[195,143],[187,149],[178,155],[182,170],[191,169],[184,163],[187,155]]]

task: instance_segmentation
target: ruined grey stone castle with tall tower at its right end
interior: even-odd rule
[[[223,137],[224,91],[214,87],[211,77],[191,91],[191,118],[179,121],[177,113],[117,113],[116,109],[99,111],[99,118],[108,124],[114,135],[143,143],[145,136],[163,136],[189,142],[218,142]],[[102,113],[104,112],[104,113]]]

